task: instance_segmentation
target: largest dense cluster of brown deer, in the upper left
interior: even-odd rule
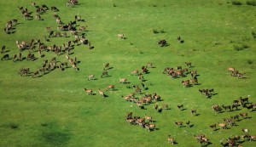
[[[67,3],[70,3],[72,5],[78,4],[77,0],[69,0]],[[27,67],[22,67],[20,68],[20,71],[18,72],[20,76],[32,76],[32,77],[38,77],[38,76],[43,76],[46,73],[49,73],[49,71],[53,71],[56,68],[61,69],[61,71],[64,71],[64,69],[68,67],[73,67],[73,69],[78,70],[79,68],[77,67],[77,64],[79,61],[77,60],[76,57],[71,58],[69,55],[73,54],[72,50],[74,49],[74,45],[79,45],[79,42],[81,44],[87,44],[88,48],[93,48],[88,42],[88,40],[84,37],[85,29],[86,26],[77,26],[77,21],[84,21],[81,19],[81,16],[75,15],[74,20],[71,20],[70,22],[67,23],[67,25],[64,25],[64,23],[61,21],[61,17],[56,14],[60,10],[56,8],[55,6],[53,7],[48,7],[45,4],[42,4],[41,6],[37,5],[35,2],[31,2],[32,8],[35,9],[35,18],[36,20],[43,20],[41,15],[42,14],[47,14],[49,13],[49,9],[54,12],[53,14],[54,18],[56,19],[56,23],[58,24],[57,29],[59,31],[53,31],[52,27],[46,26],[46,31],[49,32],[48,38],[44,36],[44,41],[37,39],[37,38],[32,38],[31,41],[16,41],[16,47],[18,48],[18,54],[14,54],[12,57],[9,54],[6,54],[9,52],[9,50],[6,50],[6,46],[3,45],[1,48],[1,54],[3,54],[3,57],[1,60],[9,60],[12,59],[14,62],[16,61],[23,61],[24,59],[26,60],[32,60],[35,61],[38,58],[47,58],[49,54],[46,54],[46,52],[52,52],[55,53],[56,56],[61,56],[61,54],[66,54],[66,61],[60,61],[57,60],[55,57],[50,59],[50,62],[48,63],[48,59],[44,59],[44,63],[42,64],[42,67],[37,69],[36,71],[32,72],[30,68]],[[20,13],[22,16],[25,17],[25,20],[33,20],[32,13],[28,10],[27,7],[18,7],[20,10]],[[14,26],[17,27],[19,19],[13,19],[9,20],[6,24],[5,29],[3,29],[7,34],[10,33],[15,33],[15,28]],[[27,21],[25,21],[27,22]],[[29,23],[29,22],[28,22]],[[83,23],[84,24],[84,23]],[[75,37],[75,40],[70,40],[68,42],[63,42],[62,45],[46,45],[49,43],[49,39],[52,37],[61,37],[61,32],[63,31],[63,37],[67,37],[67,31],[70,31],[71,36]],[[54,34],[55,32],[55,34]],[[28,52],[28,53],[26,53]],[[34,54],[35,52],[38,52],[38,56]],[[45,52],[45,54],[44,54]],[[24,56],[26,54],[26,56]],[[65,58],[62,58],[63,60]],[[69,63],[70,66],[67,64]]]

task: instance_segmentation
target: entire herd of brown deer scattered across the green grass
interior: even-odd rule
[[[51,45],[46,46],[44,42],[40,41],[39,39],[32,39],[29,42],[26,41],[16,41],[16,46],[18,48],[18,54],[14,54],[11,58],[9,54],[5,54],[8,51],[6,51],[6,47],[3,45],[1,54],[3,54],[3,57],[1,60],[9,60],[12,59],[14,62],[22,61],[24,59],[26,60],[32,60],[35,61],[37,59],[36,55],[33,54],[34,52],[38,52],[38,58],[46,58],[46,55],[43,54],[44,52],[53,52],[57,56],[61,56],[61,54],[66,54],[67,61],[58,61],[55,57],[49,59],[44,59],[44,63],[42,64],[42,68],[37,69],[34,72],[30,71],[30,68],[20,68],[19,74],[20,76],[32,76],[39,77],[44,76],[45,74],[49,73],[50,71],[54,71],[55,69],[60,69],[61,71],[64,71],[66,68],[69,68],[69,65],[73,67],[73,69],[79,71],[79,68],[77,67],[79,61],[76,57],[73,59],[70,57],[72,54],[72,50],[75,48],[75,45],[87,45],[89,49],[92,49],[90,42],[86,40],[84,37],[84,31],[86,30],[87,25],[79,26],[77,28],[77,21],[84,24],[84,20],[81,19],[81,16],[75,15],[74,20],[71,20],[66,25],[61,21],[61,17],[55,14],[59,11],[56,7],[50,7],[48,8],[45,4],[38,6],[36,3],[32,2],[32,6],[35,8],[35,19],[36,20],[44,20],[41,15],[46,14],[49,9],[54,12],[53,16],[56,20],[57,24],[57,31],[53,31],[51,27],[46,26],[45,30],[49,33],[48,37],[44,36],[44,42],[49,42],[50,38],[55,37],[68,37],[67,32],[70,32],[70,36],[73,36],[75,40],[71,40],[68,42],[63,42],[61,46],[58,45]],[[67,2],[67,7],[73,7],[74,5],[78,4],[77,0],[69,0]],[[28,8],[18,7],[20,14],[23,16],[24,20],[33,20],[32,12],[29,12]],[[15,26],[18,27],[18,19],[9,20],[6,23],[6,27],[3,29],[7,34],[15,33]],[[62,35],[61,35],[62,34]],[[125,39],[124,34],[118,34],[117,37],[120,39]],[[183,43],[183,40],[181,37],[177,37],[177,41],[179,43]],[[160,47],[166,47],[168,44],[166,40],[160,40],[158,42]],[[37,48],[38,46],[38,48]],[[28,54],[26,57],[23,57],[23,54],[26,54],[25,52],[28,51]],[[68,64],[69,63],[69,64]],[[177,66],[177,68],[171,68],[166,67],[161,74],[166,74],[167,76],[170,76],[172,79],[178,79],[183,78],[187,76],[191,76],[187,80],[183,80],[181,84],[183,84],[184,88],[189,88],[191,86],[199,84],[198,78],[197,78],[197,71],[191,70],[194,66],[190,62],[185,62],[186,68],[183,68],[182,66]],[[139,82],[141,83],[141,86],[138,85],[132,85],[133,92],[129,93],[125,96],[122,96],[123,99],[126,101],[129,101],[131,103],[135,103],[139,108],[144,109],[145,105],[151,105],[154,104],[157,101],[162,101],[160,95],[157,93],[143,93],[143,90],[146,90],[145,87],[145,74],[149,74],[149,70],[153,70],[153,64],[148,63],[147,65],[143,65],[141,67],[141,70],[134,70],[131,71],[131,75],[134,77],[137,77]],[[108,71],[112,69],[110,67],[109,63],[104,64],[103,71],[101,78],[108,78]],[[241,73],[239,71],[236,71],[234,68],[230,67],[227,69],[228,72],[230,72],[231,76],[237,76],[237,78],[243,78],[245,73]],[[95,80],[95,75],[88,76],[88,82],[91,80]],[[130,82],[128,82],[127,78],[119,78],[119,84],[127,84],[130,88]],[[127,87],[128,88],[128,87]],[[106,92],[115,90],[114,85],[108,85],[107,88],[101,90],[100,88],[97,89],[99,95],[102,96],[102,98],[107,97]],[[84,88],[84,91],[87,93],[87,95],[95,95],[94,90],[90,88]],[[211,98],[214,96],[214,89],[199,89],[199,92],[206,96],[206,98]],[[138,98],[140,97],[140,98]],[[156,105],[153,106],[154,110],[161,113],[162,110],[170,110],[169,106],[167,104],[164,105]],[[224,111],[232,111],[232,110],[243,110],[243,108],[247,108],[247,110],[253,111],[256,108],[256,104],[249,101],[248,98],[239,98],[234,99],[233,102],[230,105],[212,105],[212,110],[216,113],[220,113]],[[183,105],[178,104],[177,109],[183,111]],[[195,109],[191,109],[190,113],[192,116],[197,116],[197,111]],[[217,131],[218,129],[228,129],[231,127],[236,126],[236,122],[241,121],[242,119],[247,119],[248,113],[247,112],[240,112],[236,116],[230,116],[230,118],[225,118],[224,122],[220,123],[212,123],[209,125],[209,128],[212,128],[213,131]],[[125,115],[125,121],[128,122],[131,125],[138,125],[140,127],[146,128],[148,132],[154,131],[156,129],[156,125],[154,124],[154,119],[152,116],[147,116],[146,114],[144,116],[133,116],[132,112],[128,112]],[[191,122],[185,122],[186,126],[183,125],[183,122],[178,121],[174,122],[174,124],[177,125],[177,127],[191,127]],[[247,140],[254,141],[255,135],[250,135],[248,133],[247,128],[243,128],[241,130],[243,132],[242,135],[236,135],[233,138],[226,139],[226,142],[222,142],[221,144],[223,146],[240,146],[241,144]],[[194,135],[195,140],[199,142],[201,145],[207,146],[207,144],[210,144],[209,138],[205,134],[198,134]],[[177,144],[178,140],[175,140],[171,135],[168,135],[167,141],[170,144]]]

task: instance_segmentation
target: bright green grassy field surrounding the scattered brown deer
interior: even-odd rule
[[[53,14],[58,14],[64,24],[73,21],[74,15],[81,15],[85,21],[77,25],[88,26],[85,37],[94,47],[74,46],[70,57],[79,59],[79,71],[72,67],[64,71],[55,69],[35,78],[20,76],[18,72],[20,68],[37,71],[44,59],[55,57],[57,61],[67,61],[65,54],[43,52],[45,56],[40,58],[34,52],[38,58],[34,61],[0,61],[0,146],[163,147],[172,146],[167,143],[167,136],[172,135],[177,143],[174,146],[189,147],[201,146],[193,135],[204,133],[211,143],[208,146],[215,147],[221,146],[220,141],[245,134],[242,128],[248,128],[250,135],[256,134],[255,111],[239,107],[217,114],[212,110],[212,105],[231,105],[239,97],[248,97],[249,102],[255,103],[256,43],[252,35],[256,32],[255,6],[247,5],[247,1],[234,5],[230,0],[79,0],[73,7],[67,7],[66,2],[38,0],[38,6],[55,6],[60,11],[47,10],[41,14],[44,20],[24,20],[17,7],[27,7],[34,17],[35,8],[30,1],[0,0],[0,46],[6,46],[4,54],[10,57],[19,54],[15,41],[30,42],[37,38],[46,46],[61,46],[74,40],[67,31],[69,37],[44,41],[44,36],[49,35],[46,26],[57,31]],[[14,33],[7,34],[3,28],[13,19],[19,19],[19,23],[14,26]],[[119,33],[126,39],[117,37]],[[177,42],[178,36],[183,43]],[[169,45],[160,47],[160,39]],[[24,50],[22,56],[28,53]],[[3,54],[0,55],[2,58]],[[141,110],[122,98],[134,89],[119,83],[119,78],[127,78],[130,85],[140,85],[131,71],[140,70],[148,62],[155,68],[143,75],[148,88],[143,94],[157,93],[162,101],[144,105],[145,110]],[[186,67],[185,62],[192,63],[189,70],[198,71],[200,84],[184,88],[181,82],[190,75],[172,79],[162,73],[166,67]],[[110,63],[113,68],[108,70],[108,77],[101,78],[104,63]],[[244,78],[230,76],[228,67],[245,72]],[[96,80],[87,80],[91,74],[96,75]],[[102,98],[97,89],[104,90],[110,84],[115,90],[105,91],[108,97]],[[87,95],[84,88],[92,89],[96,95]],[[214,88],[216,94],[207,99],[199,93],[201,88]],[[136,97],[140,99],[143,94]],[[153,108],[155,104],[167,104],[170,110],[158,113]],[[178,110],[178,104],[183,104],[185,110]],[[196,109],[199,115],[192,116],[190,109]],[[129,125],[125,121],[127,112],[133,112],[133,116],[152,116],[157,129],[148,132]],[[240,117],[236,126],[216,131],[209,127],[241,112],[247,112],[249,118]],[[177,127],[174,121],[190,121],[192,126]],[[256,146],[255,141],[241,141],[241,144]]]

